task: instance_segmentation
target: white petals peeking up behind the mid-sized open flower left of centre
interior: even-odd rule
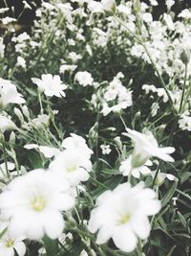
[[[88,148],[85,139],[74,133],[71,133],[71,137],[63,140],[62,147],[70,151],[83,152],[84,157],[88,159],[90,159],[91,154],[93,153],[93,151]]]

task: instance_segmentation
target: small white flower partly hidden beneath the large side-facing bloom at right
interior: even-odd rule
[[[119,172],[122,173],[124,176],[133,175],[134,177],[139,178],[141,175],[149,175],[151,174],[151,170],[148,168],[148,166],[152,165],[152,162],[150,160],[147,160],[146,163],[144,163],[142,166],[139,166],[137,168],[134,168],[132,166],[133,159],[132,154],[122,161],[120,163]]]

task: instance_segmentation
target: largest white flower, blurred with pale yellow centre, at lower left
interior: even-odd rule
[[[41,169],[14,178],[0,195],[1,213],[10,220],[11,237],[38,240],[46,233],[56,239],[64,228],[61,211],[74,206],[69,189],[66,180]]]

